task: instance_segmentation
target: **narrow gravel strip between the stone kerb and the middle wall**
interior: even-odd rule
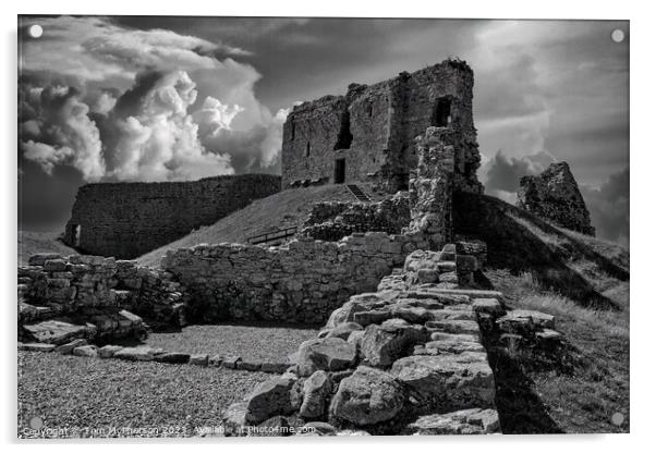
[[[146,343],[166,351],[238,355],[244,360],[286,363],[301,343],[317,335],[314,328],[189,326],[181,332],[151,333]]]

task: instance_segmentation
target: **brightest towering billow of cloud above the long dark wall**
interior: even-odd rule
[[[208,152],[187,109],[195,84],[183,71],[145,73],[117,101],[104,127],[107,176],[121,181],[189,180],[233,173],[230,157]]]

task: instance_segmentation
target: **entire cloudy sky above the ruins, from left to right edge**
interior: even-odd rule
[[[567,160],[600,235],[628,241],[628,22],[20,22],[22,228],[60,228],[85,181],[278,172],[294,102],[458,57],[475,74],[486,191],[512,201],[518,175]]]

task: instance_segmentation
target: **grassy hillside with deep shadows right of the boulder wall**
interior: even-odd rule
[[[555,315],[567,341],[548,360],[490,352],[503,432],[629,432],[629,250],[493,197],[455,211],[457,233],[488,245],[490,286]]]

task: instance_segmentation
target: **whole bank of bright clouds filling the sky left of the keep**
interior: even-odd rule
[[[63,164],[86,181],[170,181],[279,171],[287,110],[259,102],[251,65],[218,58],[247,51],[105,17],[38,23],[44,37],[23,46],[19,122],[23,156],[45,172]],[[74,108],[52,114],[46,87]]]

